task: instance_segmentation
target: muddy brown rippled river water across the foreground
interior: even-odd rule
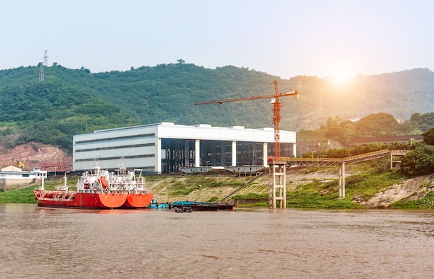
[[[434,212],[0,205],[0,278],[431,278]]]

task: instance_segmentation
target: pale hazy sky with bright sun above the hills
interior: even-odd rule
[[[434,71],[434,0],[14,0],[0,69],[127,71],[184,60],[281,78]]]

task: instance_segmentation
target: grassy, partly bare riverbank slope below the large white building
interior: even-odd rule
[[[293,208],[420,208],[434,209],[433,174],[405,177],[399,170],[358,163],[345,169],[345,198],[338,197],[338,168],[300,167],[286,172],[287,207]],[[74,189],[77,177],[69,177]],[[146,186],[159,203],[177,200],[239,201],[257,199],[254,206],[268,206],[268,174],[162,174],[146,176]],[[51,177],[45,188],[63,184]],[[36,203],[33,188],[0,193],[0,203]],[[243,205],[239,205],[243,206]]]

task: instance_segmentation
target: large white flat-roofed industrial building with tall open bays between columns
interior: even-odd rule
[[[295,132],[280,131],[280,156],[295,156]],[[73,170],[128,169],[161,174],[180,168],[267,166],[274,154],[272,128],[158,123],[73,136]]]

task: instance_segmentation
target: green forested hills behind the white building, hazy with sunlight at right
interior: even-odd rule
[[[272,127],[270,100],[198,105],[195,102],[300,91],[281,98],[281,129],[318,128],[341,119],[385,112],[409,119],[434,108],[434,73],[414,69],[357,76],[347,84],[300,75],[290,80],[235,66],[205,69],[178,60],[130,71],[91,73],[58,64],[0,71],[0,145],[37,141],[71,150],[72,135],[96,129],[160,123]]]

